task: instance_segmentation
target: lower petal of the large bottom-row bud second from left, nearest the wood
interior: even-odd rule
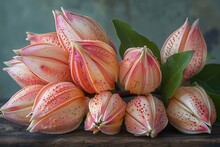
[[[85,100],[74,101],[42,119],[33,120],[33,124],[29,126],[29,130],[30,132],[48,134],[71,132],[79,127],[86,113],[87,106],[85,105]]]

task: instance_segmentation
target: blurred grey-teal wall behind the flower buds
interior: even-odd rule
[[[26,45],[26,31],[55,31],[52,10],[64,7],[97,20],[118,48],[120,42],[112,19],[128,22],[154,41],[159,48],[186,17],[192,24],[200,18],[208,51],[220,63],[220,1],[219,0],[0,0],[0,100],[10,98],[19,86],[2,71],[3,61],[15,54],[12,49]]]

